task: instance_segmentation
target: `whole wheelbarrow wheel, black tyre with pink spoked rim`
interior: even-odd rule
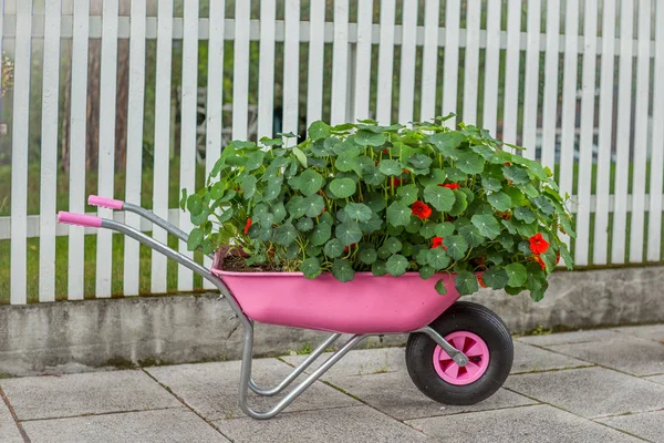
[[[425,333],[412,333],[406,367],[428,398],[450,405],[478,403],[505,382],[512,365],[513,344],[502,320],[481,305],[458,301],[430,324],[469,359],[459,367]]]

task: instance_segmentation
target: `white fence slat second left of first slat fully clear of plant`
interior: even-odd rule
[[[542,152],[540,162],[553,171],[558,120],[558,64],[560,59],[560,0],[547,1],[547,53],[542,104]]]

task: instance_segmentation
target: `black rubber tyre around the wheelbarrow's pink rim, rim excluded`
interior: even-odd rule
[[[489,365],[473,383],[450,384],[434,368],[436,342],[425,333],[411,333],[406,367],[417,389],[429,399],[450,405],[475,404],[498,391],[509,375],[515,356],[509,330],[500,317],[481,305],[457,301],[429,326],[443,337],[455,331],[479,336],[489,348]]]

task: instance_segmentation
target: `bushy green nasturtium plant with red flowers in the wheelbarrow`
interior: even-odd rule
[[[341,281],[456,272],[461,295],[481,285],[541,299],[558,258],[572,265],[559,237],[574,236],[572,220],[551,172],[487,131],[444,121],[314,122],[299,145],[292,134],[235,141],[205,187],[183,189],[197,226],[188,247],[232,244],[249,266]],[[446,292],[443,279],[432,285]]]

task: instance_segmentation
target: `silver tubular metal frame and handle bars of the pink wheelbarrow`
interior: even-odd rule
[[[187,235],[153,213],[143,209],[138,206],[125,204],[125,209],[134,212],[138,215],[142,215],[148,219],[151,219],[156,225],[163,227],[170,234],[177,236],[181,240],[187,240]],[[252,353],[253,353],[253,321],[249,319],[242,312],[242,309],[238,301],[235,299],[228,287],[217,278],[212,272],[197,264],[189,257],[179,254],[176,250],[170,249],[168,246],[155,240],[154,238],[141,233],[137,229],[134,229],[131,226],[125,224],[102,219],[102,228],[112,229],[118,233],[122,233],[126,236],[132,237],[133,239],[155,249],[158,253],[164,254],[166,257],[174,259],[178,264],[189,268],[194,272],[206,278],[210,282],[219,289],[226,301],[229,303],[230,308],[234,310],[242,327],[245,328],[245,348],[242,350],[242,364],[240,370],[240,387],[239,387],[239,405],[243,413],[252,419],[266,420],[271,419],[277,415],[279,412],[283,411],[289,404],[293,402],[302,392],[307,390],[311,384],[313,384],[321,375],[323,375],[330,368],[332,368],[343,356],[345,356],[350,350],[357,346],[362,340],[370,337],[371,334],[355,334],[351,337],[338,351],[335,351],[332,356],[330,356],[323,363],[317,368],[311,374],[309,374],[302,382],[300,382],[295,388],[293,388],[283,399],[281,399],[272,409],[266,412],[257,412],[248,404],[248,391],[256,392],[257,394],[263,396],[272,396],[281,391],[283,391],[287,387],[289,387],[302,372],[307,370],[318,358],[328,349],[332,343],[334,343],[340,337],[340,333],[331,334],[325,341],[323,341],[300,365],[298,365],[286,379],[283,379],[278,385],[271,389],[262,389],[259,388],[253,380],[251,379],[251,363],[252,363]],[[438,332],[436,332],[430,327],[425,327],[418,329],[413,332],[422,332],[429,336],[436,343],[438,343],[448,354],[457,362],[459,365],[465,365],[468,362],[468,358],[459,350],[449,344]]]

